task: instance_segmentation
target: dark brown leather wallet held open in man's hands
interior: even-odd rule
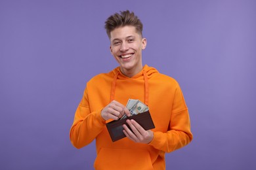
[[[125,133],[123,133],[123,124],[126,124],[127,127],[129,127],[129,125],[126,122],[127,119],[135,120],[145,130],[155,128],[154,122],[151,118],[151,115],[150,115],[149,111],[142,112],[140,114],[133,115],[133,116],[121,119],[121,120],[113,120],[112,122],[108,122],[106,124],[106,127],[108,129],[108,133],[110,133],[110,137],[111,137],[113,142],[118,141],[119,139],[122,139],[122,138],[126,137]],[[129,129],[131,129],[131,128],[129,127]]]

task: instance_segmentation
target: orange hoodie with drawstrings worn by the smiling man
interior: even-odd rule
[[[101,110],[115,99],[126,105],[139,99],[148,105],[156,128],[149,144],[134,143],[127,137],[112,142]],[[190,143],[190,119],[181,88],[173,78],[145,65],[129,78],[117,67],[93,77],[85,88],[70,129],[70,140],[82,148],[96,139],[95,169],[165,169],[165,152]]]

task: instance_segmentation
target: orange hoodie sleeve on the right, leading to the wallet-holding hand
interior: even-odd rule
[[[154,139],[149,143],[154,146],[154,148],[164,152],[172,152],[182,148],[193,139],[193,135],[190,131],[188,109],[179,86],[177,86],[175,90],[171,118],[169,121],[169,130],[165,133],[155,131]]]

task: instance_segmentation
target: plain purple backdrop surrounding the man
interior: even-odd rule
[[[85,83],[117,67],[104,21],[133,10],[143,63],[173,76],[194,140],[167,169],[256,169],[256,1],[0,1],[1,169],[93,169],[69,130]],[[161,100],[160,100],[161,102]]]

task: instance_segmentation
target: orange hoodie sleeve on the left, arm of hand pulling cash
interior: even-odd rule
[[[75,148],[82,148],[91,143],[102,131],[106,121],[100,115],[101,110],[91,112],[87,88],[75,111],[74,123],[70,129],[70,141]]]

